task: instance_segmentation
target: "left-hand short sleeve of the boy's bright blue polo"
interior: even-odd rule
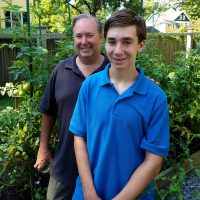
[[[76,106],[70,121],[69,131],[74,135],[86,137],[87,100],[86,89],[83,84],[78,95]]]

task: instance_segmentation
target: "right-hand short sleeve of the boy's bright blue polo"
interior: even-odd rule
[[[157,155],[167,156],[170,138],[169,127],[169,112],[166,100],[155,106],[140,147]]]

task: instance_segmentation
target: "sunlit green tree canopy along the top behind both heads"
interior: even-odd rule
[[[140,3],[141,0],[76,0],[74,3],[69,0],[40,0],[35,1],[33,10],[36,23],[40,19],[41,24],[48,26],[51,32],[63,32],[70,23],[69,17],[72,19],[77,14],[90,13],[103,21],[120,8],[129,8],[140,13]],[[175,4],[168,2],[166,5],[156,4],[153,0],[143,1],[143,17],[146,19],[155,9],[162,12],[169,5],[175,6],[175,9],[182,8],[192,20],[200,18],[199,0],[181,0]]]

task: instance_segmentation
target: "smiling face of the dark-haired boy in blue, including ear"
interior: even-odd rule
[[[106,52],[115,68],[135,67],[136,55],[144,47],[138,43],[136,26],[111,27],[106,37]]]

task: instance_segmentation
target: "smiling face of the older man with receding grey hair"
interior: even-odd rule
[[[74,47],[79,58],[94,58],[100,53],[102,35],[94,19],[80,19],[73,29]]]

